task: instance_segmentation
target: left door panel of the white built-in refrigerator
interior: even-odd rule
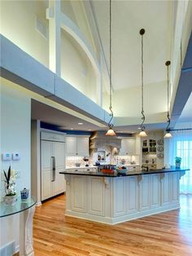
[[[52,196],[52,159],[53,143],[41,141],[41,200]]]

